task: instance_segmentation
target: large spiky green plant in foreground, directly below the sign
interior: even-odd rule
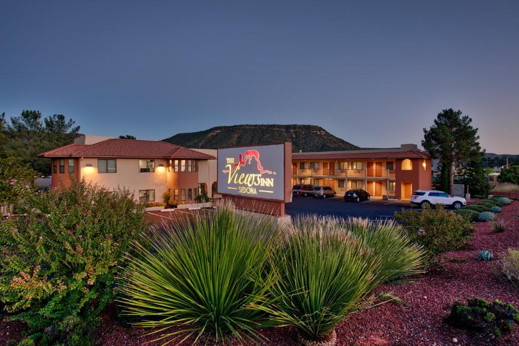
[[[153,228],[141,257],[129,256],[122,275],[121,303],[142,316],[138,327],[158,327],[156,341],[182,343],[258,340],[272,275],[266,270],[269,217],[221,205],[212,215]],[[178,327],[168,330],[170,327]]]

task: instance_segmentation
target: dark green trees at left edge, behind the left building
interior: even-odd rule
[[[74,120],[66,120],[62,114],[42,119],[38,110],[23,110],[21,116],[11,117],[10,123],[4,119],[3,132],[8,137],[4,150],[29,163],[33,170],[49,174],[50,160],[38,159],[36,155],[72,143],[79,132],[79,126],[74,124]]]

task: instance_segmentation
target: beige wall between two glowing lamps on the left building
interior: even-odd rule
[[[79,179],[85,178],[108,189],[125,188],[135,195],[139,201],[139,190],[155,190],[155,202],[162,202],[162,193],[167,190],[167,161],[155,160],[155,172],[139,171],[139,159],[116,159],[117,173],[98,173],[97,158],[79,159]],[[91,164],[91,167],[87,167]],[[159,167],[162,164],[163,167]]]

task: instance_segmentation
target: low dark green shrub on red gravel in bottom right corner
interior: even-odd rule
[[[510,304],[481,298],[470,298],[467,302],[467,305],[455,302],[444,321],[455,328],[473,329],[495,336],[511,333],[514,329],[512,323],[519,323],[519,311]]]

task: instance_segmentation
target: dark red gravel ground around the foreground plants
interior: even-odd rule
[[[418,275],[411,283],[380,287],[379,292],[392,292],[403,298],[406,305],[387,303],[350,316],[337,327],[337,344],[519,345],[519,328],[507,337],[493,339],[452,328],[442,321],[442,317],[448,313],[447,306],[450,303],[456,300],[466,301],[469,297],[499,299],[519,307],[519,291],[493,271],[493,267],[499,267],[500,252],[509,247],[519,247],[519,202],[504,206],[499,219],[506,223],[506,231],[494,233],[491,223],[477,223],[469,245],[447,254],[447,258],[466,262],[447,261],[444,270]],[[477,260],[479,250],[492,250],[495,260]],[[0,345],[7,344],[9,339],[20,340],[22,329],[23,325],[20,323],[0,321]],[[113,312],[107,311],[97,335],[103,345],[130,346],[153,340],[153,337],[145,335],[146,332],[147,330],[122,326]],[[292,328],[266,328],[262,333],[268,339],[266,345],[295,344],[293,340],[296,333]],[[457,343],[453,342],[453,338],[457,339]]]

